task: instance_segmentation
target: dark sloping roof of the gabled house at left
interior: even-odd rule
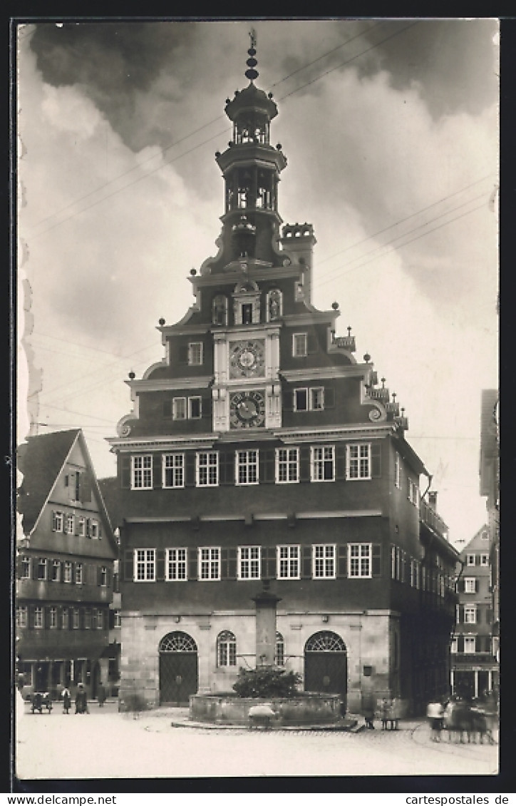
[[[79,428],[54,431],[28,437],[19,446],[18,469],[23,473],[23,481],[19,487],[18,511],[23,515],[25,534],[35,525],[79,434]]]

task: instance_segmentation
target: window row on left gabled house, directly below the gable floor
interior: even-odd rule
[[[98,585],[101,588],[107,588],[112,582],[112,571],[109,567],[93,563],[77,563],[72,560],[22,555],[18,559],[18,569],[20,580]]]

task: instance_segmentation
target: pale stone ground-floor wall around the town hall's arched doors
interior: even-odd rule
[[[330,630],[347,649],[346,711],[362,713],[365,699],[398,696],[392,671],[390,629],[397,614],[388,610],[366,613],[281,613],[277,629],[283,635],[285,668],[303,676],[304,647],[313,634]],[[198,692],[231,692],[239,667],[254,668],[254,612],[210,613],[177,617],[124,612],[120,699],[138,694],[147,707],[159,705],[159,642],[177,630],[187,633],[198,650]],[[237,664],[217,667],[217,635],[230,630],[237,639]]]

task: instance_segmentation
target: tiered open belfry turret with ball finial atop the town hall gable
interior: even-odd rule
[[[227,99],[225,114],[233,123],[233,139],[216,159],[225,181],[225,248],[230,260],[241,256],[270,260],[270,243],[282,219],[278,213],[279,174],[287,165],[281,146],[270,145],[270,121],[278,108],[268,95],[254,85],[256,39],[246,62],[250,84]]]

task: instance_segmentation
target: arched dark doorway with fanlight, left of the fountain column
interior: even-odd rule
[[[159,702],[188,705],[197,693],[197,645],[192,636],[177,630],[159,642]]]

